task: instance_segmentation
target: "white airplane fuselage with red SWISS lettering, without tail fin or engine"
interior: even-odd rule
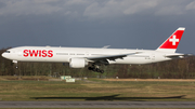
[[[88,47],[51,47],[51,46],[21,46],[9,50],[2,56],[16,62],[51,62],[69,63],[70,58],[87,58],[120,54],[131,54],[115,60],[108,60],[109,64],[151,64],[157,62],[170,60],[167,55],[181,55],[179,53],[166,53],[150,50],[121,50],[121,49],[88,49]]]

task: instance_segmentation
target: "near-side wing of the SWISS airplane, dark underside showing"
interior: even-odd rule
[[[106,56],[87,57],[87,59],[91,60],[91,62],[107,62],[107,59],[109,59],[109,60],[123,59],[123,57],[126,57],[128,55],[134,55],[134,54],[139,54],[139,53],[141,53],[141,52],[129,53],[129,54],[119,54],[119,55],[106,55]]]

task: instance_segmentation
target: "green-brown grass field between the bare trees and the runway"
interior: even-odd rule
[[[195,81],[79,80],[47,77],[0,77],[0,100],[128,100],[195,101]],[[39,80],[39,81],[38,81]]]

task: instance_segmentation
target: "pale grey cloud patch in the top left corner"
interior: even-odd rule
[[[4,0],[0,3],[5,4],[1,8],[0,15],[40,15],[51,14],[62,10],[61,6],[51,5],[49,3],[56,2],[57,0]]]

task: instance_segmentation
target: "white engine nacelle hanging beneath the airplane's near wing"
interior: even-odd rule
[[[88,62],[84,58],[70,58],[69,67],[70,68],[84,68],[88,65]]]

